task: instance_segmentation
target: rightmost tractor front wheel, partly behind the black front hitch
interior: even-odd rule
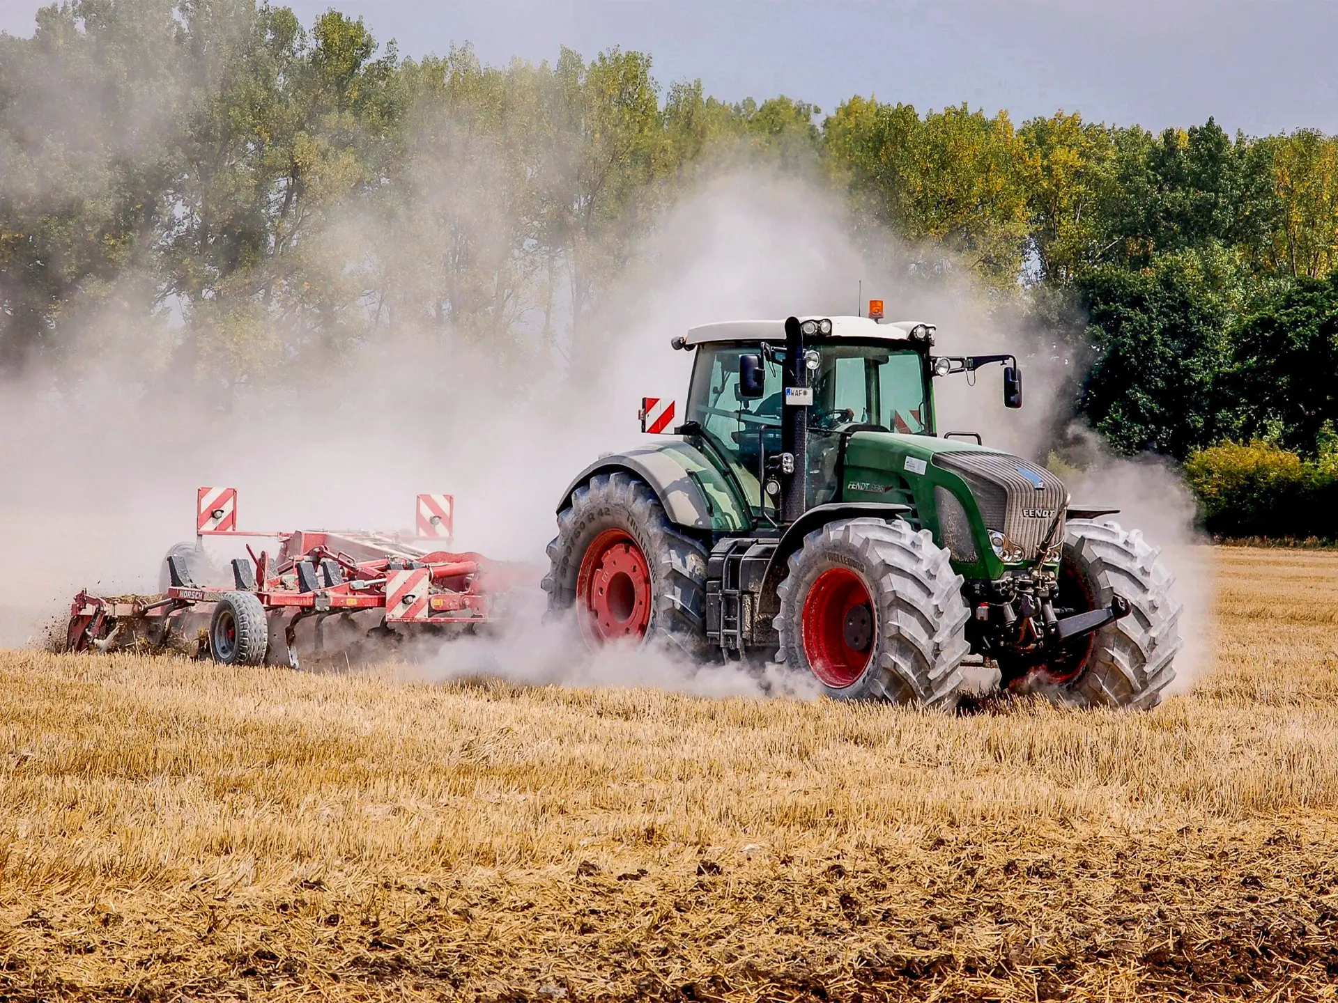
[[[1072,671],[1056,679],[1042,667],[1024,686],[1065,706],[1157,706],[1175,679],[1181,606],[1171,596],[1175,575],[1137,530],[1117,523],[1070,519],[1060,563],[1060,599],[1089,610],[1105,608],[1119,594],[1128,617],[1078,642],[1058,661]]]

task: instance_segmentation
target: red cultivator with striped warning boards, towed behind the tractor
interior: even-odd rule
[[[300,629],[317,655],[411,637],[450,637],[504,619],[542,570],[442,548],[454,538],[450,495],[419,495],[413,534],[238,530],[237,491],[201,488],[195,544],[165,559],[162,591],[99,596],[70,610],[70,651],[178,650],[237,665],[297,666]],[[276,540],[227,568],[203,548],[207,536]],[[229,579],[230,582],[225,580]],[[333,623],[332,623],[333,618]]]

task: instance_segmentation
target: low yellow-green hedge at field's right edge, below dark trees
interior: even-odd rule
[[[1338,536],[1338,455],[1305,460],[1272,443],[1223,443],[1192,453],[1185,480],[1204,528],[1219,536]]]

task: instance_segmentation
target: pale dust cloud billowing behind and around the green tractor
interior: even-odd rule
[[[637,432],[642,396],[682,407],[690,358],[669,340],[710,321],[850,314],[878,297],[891,320],[938,324],[941,353],[1013,352],[1026,370],[1026,408],[1004,409],[993,366],[974,386],[962,376],[939,381],[939,425],[979,431],[987,445],[1044,461],[1081,360],[1001,321],[970,275],[909,277],[894,242],[870,245],[866,234],[856,243],[850,223],[832,195],[803,179],[756,169],[706,179],[665,211],[582,338],[570,342],[570,361],[538,344],[507,360],[478,341],[443,350],[409,325],[324,368],[244,389],[227,405],[187,380],[175,384],[170,370],[146,378],[126,354],[100,353],[74,377],[37,369],[0,384],[0,538],[9,556],[0,643],[35,637],[79,587],[153,591],[162,554],[193,535],[201,484],[240,489],[244,530],[401,528],[411,524],[415,493],[451,492],[455,550],[546,563],[563,488],[599,453],[649,439]],[[106,344],[108,332],[130,345],[173,338],[170,317],[90,320],[90,338]],[[524,324],[519,332],[523,340]],[[1168,556],[1193,542],[1192,510],[1172,471],[1096,448],[1086,460],[1076,500],[1119,504],[1121,519],[1175,544]],[[1187,579],[1203,587],[1204,578],[1176,570],[1183,623],[1206,623],[1206,602],[1184,594]],[[500,638],[455,642],[421,671],[702,694],[814,693],[805,681],[684,666],[654,653],[591,658],[569,627],[538,617]]]

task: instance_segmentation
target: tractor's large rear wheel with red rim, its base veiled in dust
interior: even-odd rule
[[[705,659],[706,548],[632,473],[597,473],[571,493],[549,560],[549,610],[575,608],[591,650],[626,641]]]

